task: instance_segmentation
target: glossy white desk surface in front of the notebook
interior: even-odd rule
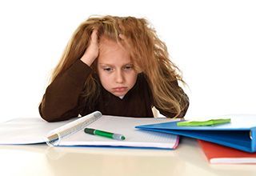
[[[182,138],[176,150],[0,146],[0,166],[8,176],[256,175],[256,165],[209,164],[191,138]]]

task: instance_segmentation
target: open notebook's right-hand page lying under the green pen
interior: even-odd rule
[[[134,147],[158,147],[175,148],[178,145],[178,136],[174,134],[164,134],[153,131],[135,129],[134,126],[152,124],[158,122],[170,122],[170,118],[123,118],[105,116],[96,122],[86,126],[97,130],[110,131],[112,133],[123,134],[124,141],[117,141],[110,138],[85,134],[83,130],[76,134],[63,138],[59,146],[134,146]]]

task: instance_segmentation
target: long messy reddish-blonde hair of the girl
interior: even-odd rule
[[[187,106],[186,95],[177,85],[177,81],[183,82],[183,80],[178,74],[180,73],[178,67],[170,61],[165,43],[158,38],[156,31],[150,27],[150,23],[145,18],[107,15],[90,17],[82,22],[74,31],[60,62],[55,67],[51,82],[75,61],[82,58],[94,29],[98,30],[98,38],[104,35],[115,42],[121,42],[123,46],[129,47],[134,69],[146,75],[154,105],[176,114],[175,117],[178,117]],[[126,43],[118,37],[119,34],[126,36]],[[95,70],[95,62],[92,67]],[[98,82],[91,74],[85,82],[82,96],[86,98],[89,104],[92,104],[98,95]]]

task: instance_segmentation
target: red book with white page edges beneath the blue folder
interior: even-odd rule
[[[198,140],[198,143],[212,164],[256,164],[256,152],[247,153],[202,140]]]

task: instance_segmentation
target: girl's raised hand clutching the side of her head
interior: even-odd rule
[[[90,66],[95,58],[98,57],[98,34],[97,30],[94,30],[90,35],[90,44],[86,49],[86,52],[82,55],[82,62],[85,62],[88,66]]]

